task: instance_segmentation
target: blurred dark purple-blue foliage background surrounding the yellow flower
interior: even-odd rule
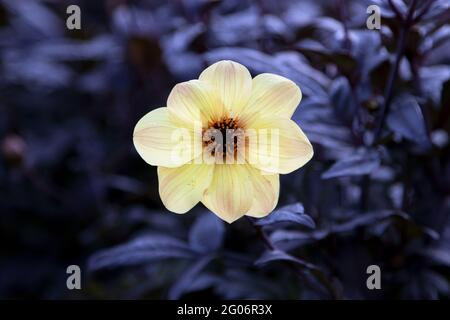
[[[0,298],[448,299],[449,21],[447,0],[0,1]],[[134,150],[221,59],[303,91],[315,156],[275,218],[170,213]]]

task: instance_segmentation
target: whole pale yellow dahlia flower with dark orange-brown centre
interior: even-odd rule
[[[289,79],[269,73],[252,79],[233,61],[177,84],[167,107],[147,113],[133,134],[139,155],[158,166],[166,208],[185,213],[201,201],[228,223],[272,212],[279,174],[313,156],[308,138],[290,119],[301,97]]]

